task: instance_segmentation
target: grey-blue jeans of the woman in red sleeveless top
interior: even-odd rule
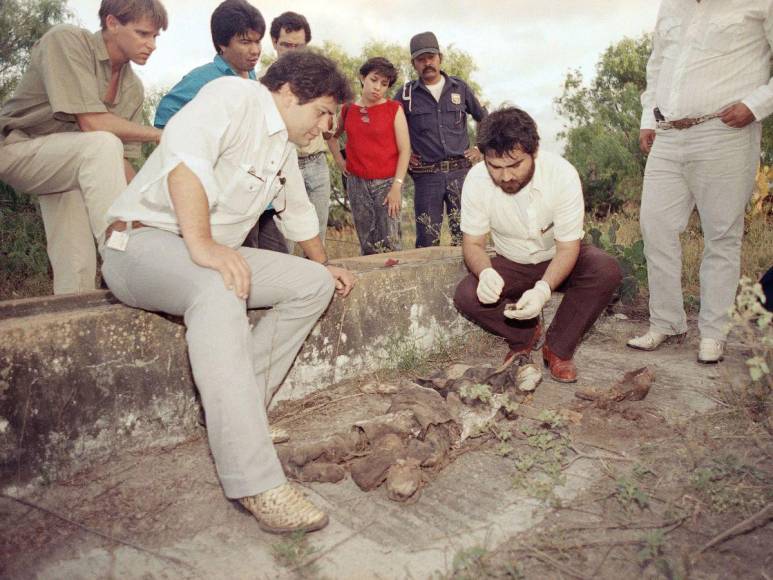
[[[352,204],[354,227],[363,256],[402,249],[400,215],[390,217],[384,198],[392,188],[393,179],[363,179],[356,175],[346,178],[346,190]]]

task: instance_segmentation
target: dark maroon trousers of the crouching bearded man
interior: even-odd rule
[[[469,274],[456,287],[454,304],[473,322],[507,340],[510,348],[524,348],[534,334],[538,319],[510,320],[505,318],[505,306],[517,302],[521,294],[533,288],[548,264],[549,260],[539,264],[519,264],[494,256],[491,265],[505,281],[499,302],[481,304],[475,293],[478,278]],[[545,338],[550,350],[560,358],[572,358],[583,335],[609,304],[621,278],[617,260],[595,246],[583,244],[580,247],[577,264],[557,289],[564,293],[564,298]]]

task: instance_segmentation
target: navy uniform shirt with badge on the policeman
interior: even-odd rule
[[[480,122],[487,115],[472,89],[462,79],[441,73],[445,86],[440,100],[427,90],[422,80],[405,83],[394,98],[403,106],[411,150],[421,163],[437,163],[461,157],[470,147],[467,115]]]

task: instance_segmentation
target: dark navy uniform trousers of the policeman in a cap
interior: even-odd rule
[[[469,169],[448,173],[411,174],[415,187],[416,247],[426,248],[440,244],[443,227],[443,207],[451,230],[451,245],[462,243],[459,227],[462,208],[462,185]]]

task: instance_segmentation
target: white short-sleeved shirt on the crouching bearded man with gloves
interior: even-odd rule
[[[585,204],[577,170],[563,157],[540,151],[534,176],[521,191],[509,194],[491,179],[485,163],[467,174],[462,188],[462,232],[491,232],[497,254],[519,264],[553,259],[555,242],[585,235]]]

